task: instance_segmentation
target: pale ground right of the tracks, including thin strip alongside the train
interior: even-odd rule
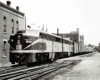
[[[69,68],[69,70],[68,68],[63,68],[40,80],[100,80],[100,53],[95,53],[88,57],[71,57],[66,60],[68,59],[82,61],[74,65],[73,68]],[[62,60],[58,60],[58,62],[62,62]]]

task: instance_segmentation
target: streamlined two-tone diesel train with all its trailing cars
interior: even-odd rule
[[[89,46],[35,29],[17,31],[10,36],[9,44],[9,59],[12,64],[43,63],[93,52]]]

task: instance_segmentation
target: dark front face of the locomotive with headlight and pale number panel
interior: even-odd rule
[[[18,53],[18,51],[23,49],[23,35],[15,34],[10,36],[10,62],[15,64],[15,62],[20,63],[23,53]]]

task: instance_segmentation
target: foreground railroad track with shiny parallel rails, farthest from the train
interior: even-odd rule
[[[62,67],[66,67],[69,64],[73,64],[76,61],[70,61],[68,63],[53,63],[42,67],[31,67],[27,69],[17,70],[0,75],[1,80],[34,80],[43,75],[56,71]]]

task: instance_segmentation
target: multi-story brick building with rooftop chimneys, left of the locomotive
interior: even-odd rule
[[[12,8],[10,1],[7,4],[0,2],[0,65],[9,63],[9,36],[19,29],[25,29],[24,13],[18,6]]]

